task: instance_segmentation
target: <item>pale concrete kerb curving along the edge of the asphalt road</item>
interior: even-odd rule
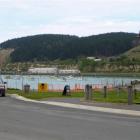
[[[121,114],[121,115],[130,115],[130,116],[140,117],[140,111],[134,111],[134,110],[113,109],[113,108],[87,106],[87,105],[71,104],[71,103],[64,103],[64,102],[54,102],[54,101],[36,101],[36,100],[27,99],[27,98],[19,96],[17,94],[12,94],[10,96],[12,98],[26,101],[26,102],[41,103],[41,104],[60,106],[60,107],[65,107],[65,108],[82,109],[82,110],[89,110],[89,111],[97,111],[97,112],[105,112],[105,113],[113,113],[113,114]]]

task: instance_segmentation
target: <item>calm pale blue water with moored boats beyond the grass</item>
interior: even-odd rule
[[[29,84],[31,89],[38,89],[38,83],[47,83],[49,89],[63,89],[64,85],[68,84],[71,88],[75,85],[84,87],[86,84],[92,85],[125,85],[132,80],[140,80],[138,77],[100,77],[100,76],[47,76],[47,75],[2,75],[2,78],[7,82],[8,88],[22,89],[25,84]]]

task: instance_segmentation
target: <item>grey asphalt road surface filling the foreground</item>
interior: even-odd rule
[[[0,98],[0,140],[139,140],[140,118]]]

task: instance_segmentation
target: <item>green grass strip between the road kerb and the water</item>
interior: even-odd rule
[[[18,94],[29,99],[41,100],[47,98],[81,98],[84,99],[84,92],[72,92],[71,96],[62,96],[61,92],[47,92],[47,93],[38,93],[30,92],[24,93],[21,90],[8,90],[8,94]],[[111,102],[111,103],[127,103],[127,91],[121,90],[119,93],[115,90],[108,91],[107,97],[104,98],[102,91],[96,91],[92,94],[93,101],[97,102]],[[137,94],[137,97],[133,97],[133,102],[140,104],[140,92]]]

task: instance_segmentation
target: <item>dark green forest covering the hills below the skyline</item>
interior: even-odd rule
[[[12,62],[116,56],[133,47],[133,33],[107,33],[89,37],[36,35],[8,40],[1,48],[13,48]]]

